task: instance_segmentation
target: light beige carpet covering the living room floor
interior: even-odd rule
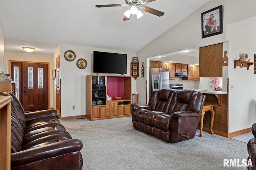
[[[134,129],[131,117],[60,121],[83,142],[83,170],[227,170],[223,159],[247,159],[246,143],[210,135],[175,144]]]

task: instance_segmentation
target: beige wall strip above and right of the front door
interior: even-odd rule
[[[53,86],[54,81],[52,79],[52,69],[54,68],[52,62],[51,55],[40,55],[40,54],[33,54],[33,53],[14,53],[14,52],[4,52],[4,64],[7,65],[9,60],[14,61],[31,61],[31,62],[45,62],[50,63],[50,105],[49,107],[53,107]],[[51,69],[52,68],[52,69]]]

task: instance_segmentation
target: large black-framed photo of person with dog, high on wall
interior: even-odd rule
[[[202,38],[222,33],[222,5],[201,14]]]

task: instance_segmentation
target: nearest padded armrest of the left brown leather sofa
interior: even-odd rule
[[[22,166],[31,162],[80,151],[83,144],[78,139],[68,139],[41,147],[14,152],[11,154],[12,167]]]

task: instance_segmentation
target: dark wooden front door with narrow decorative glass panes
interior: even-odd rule
[[[13,80],[19,80],[17,88],[24,111],[48,109],[47,63],[11,62],[11,75]]]

